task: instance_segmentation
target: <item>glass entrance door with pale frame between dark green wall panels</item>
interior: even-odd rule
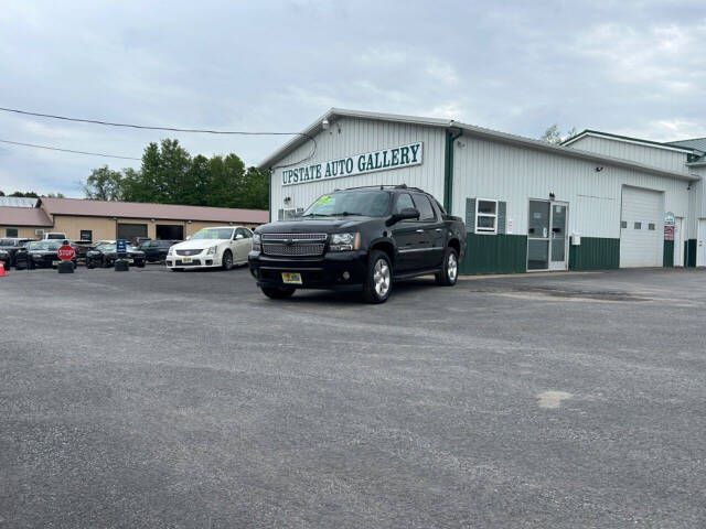
[[[567,269],[568,204],[530,201],[527,270]]]

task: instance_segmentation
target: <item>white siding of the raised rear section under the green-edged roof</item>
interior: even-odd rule
[[[628,143],[608,138],[598,138],[595,136],[585,136],[568,145],[571,149],[580,149],[582,151],[597,152],[623,160],[632,160],[633,162],[653,168],[661,168],[675,173],[688,174],[686,164],[686,153],[661,149],[659,147],[640,145],[637,143]]]

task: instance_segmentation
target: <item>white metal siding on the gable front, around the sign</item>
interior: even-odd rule
[[[340,132],[339,132],[340,130]],[[317,197],[334,188],[360,185],[407,184],[431,193],[443,202],[443,164],[446,131],[431,127],[374,121],[356,118],[342,118],[315,137],[317,153],[301,165],[336,160],[343,156],[362,154],[379,149],[404,145],[416,141],[424,142],[422,163],[411,168],[377,171],[355,176],[344,176],[328,181],[306,182],[296,185],[281,185],[282,169],[275,169],[272,175],[272,195],[270,210],[277,220],[277,212],[284,207],[307,207]],[[306,158],[311,152],[311,142],[295,150],[278,165],[287,165]],[[299,166],[299,165],[297,165]],[[289,168],[291,169],[291,168]],[[291,197],[287,205],[285,197]]]

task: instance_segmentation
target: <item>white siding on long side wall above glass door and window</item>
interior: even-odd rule
[[[463,216],[467,197],[505,201],[513,233],[527,234],[530,198],[569,203],[569,234],[584,237],[620,237],[623,185],[664,192],[664,207],[688,215],[687,183],[665,176],[522,149],[480,138],[456,141],[453,164],[454,215]]]

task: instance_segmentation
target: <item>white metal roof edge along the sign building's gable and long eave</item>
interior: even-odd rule
[[[438,119],[438,118],[422,118],[415,116],[402,116],[395,114],[381,114],[381,112],[366,112],[361,110],[345,110],[341,108],[332,108],[323,116],[321,116],[317,121],[311,123],[307,129],[302,131],[301,134],[292,138],[278,150],[276,150],[268,158],[263,160],[259,163],[260,169],[270,169],[274,163],[278,160],[281,160],[287,154],[292,152],[298,147],[304,144],[309,141],[307,136],[315,136],[323,130],[322,122],[323,120],[328,120],[330,123],[333,123],[336,118],[340,117],[350,117],[350,118],[360,118],[360,119],[370,119],[370,120],[378,120],[378,121],[394,121],[394,122],[403,122],[403,123],[411,123],[411,125],[420,125],[426,127],[437,127],[447,130],[462,130],[463,133],[469,136],[478,137],[485,140],[499,141],[502,143],[509,143],[516,147],[525,148],[525,149],[534,149],[543,152],[548,152],[552,154],[575,158],[580,160],[588,160],[591,162],[605,163],[620,168],[632,169],[637,171],[643,171],[652,174],[657,174],[661,176],[667,176],[671,179],[684,180],[687,182],[700,180],[697,175],[688,175],[683,173],[676,173],[672,171],[666,171],[664,169],[655,168],[653,165],[645,165],[639,162],[633,162],[631,160],[623,160],[620,158],[608,156],[605,154],[599,154],[596,152],[584,151],[581,149],[574,149],[561,145],[556,145],[554,143],[548,143],[542,140],[535,140],[532,138],[525,138],[516,134],[509,134],[506,132],[500,132],[492,129],[486,129],[483,127],[478,127],[474,125],[463,123],[461,121],[454,121],[452,119]],[[575,137],[576,138],[576,137]],[[569,140],[570,141],[570,140]],[[651,143],[651,142],[648,142]],[[683,150],[684,152],[692,152],[693,149],[688,148],[677,148],[671,145],[662,145],[665,149],[673,150]]]

